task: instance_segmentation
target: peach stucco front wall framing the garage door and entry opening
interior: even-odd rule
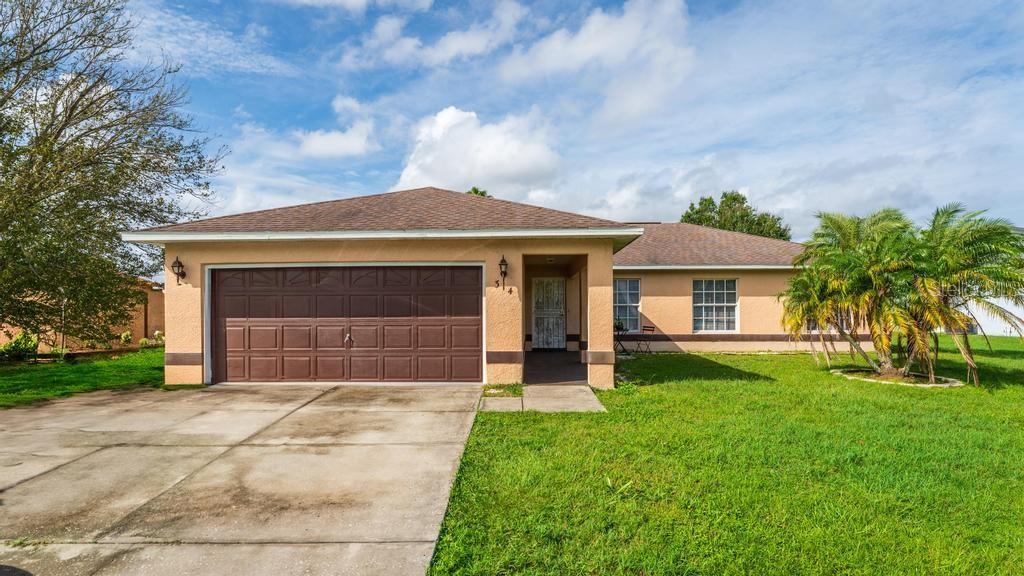
[[[611,240],[605,239],[495,239],[177,243],[165,246],[166,332],[168,354],[198,355],[204,348],[204,306],[207,266],[246,263],[388,263],[482,262],[484,283],[485,353],[523,351],[523,266],[526,254],[580,254],[587,257],[588,327],[591,351],[611,352]],[[498,262],[510,262],[502,289]],[[186,278],[178,285],[170,263],[180,258]],[[497,283],[497,285],[496,285]],[[612,365],[590,366],[590,383],[612,385]],[[168,365],[168,383],[205,381],[202,365]],[[521,363],[487,363],[486,381],[522,380]]]

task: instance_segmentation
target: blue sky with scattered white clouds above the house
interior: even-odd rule
[[[736,189],[1024,224],[1024,3],[133,0],[230,150],[212,214],[418,186],[621,220]]]

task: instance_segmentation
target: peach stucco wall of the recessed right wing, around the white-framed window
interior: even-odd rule
[[[624,271],[615,278],[640,279],[642,325],[655,329],[655,351],[791,351],[806,349],[782,329],[782,302],[790,271]],[[693,332],[693,280],[736,280],[736,332]],[[627,343],[627,346],[632,346]]]

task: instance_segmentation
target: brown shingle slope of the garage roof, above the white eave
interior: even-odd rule
[[[626,224],[461,192],[421,188],[245,212],[141,232],[605,229]]]

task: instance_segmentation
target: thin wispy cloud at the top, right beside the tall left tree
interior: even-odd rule
[[[250,25],[239,36],[205,19],[171,10],[159,0],[134,0],[129,5],[135,24],[135,43],[128,53],[136,64],[164,58],[181,66],[189,76],[242,72],[287,76],[296,70],[266,52],[263,27]]]

